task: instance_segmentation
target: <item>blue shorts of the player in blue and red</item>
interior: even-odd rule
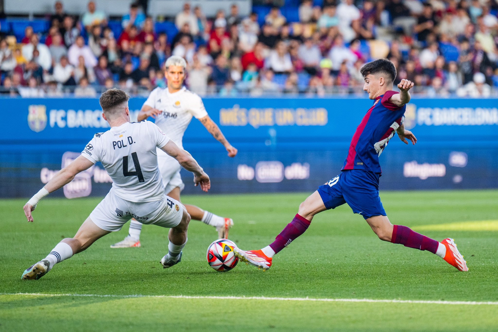
[[[344,203],[368,219],[373,216],[386,216],[378,197],[379,174],[364,170],[345,170],[323,186],[318,187],[327,210],[335,209]]]

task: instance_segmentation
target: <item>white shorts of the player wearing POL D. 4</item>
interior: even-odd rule
[[[171,228],[180,223],[182,216],[183,205],[166,195],[160,201],[135,203],[116,196],[111,189],[92,211],[90,219],[104,230],[118,231],[131,218],[143,224]]]

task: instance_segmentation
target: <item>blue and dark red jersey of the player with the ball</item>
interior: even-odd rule
[[[342,171],[364,169],[382,173],[378,157],[403,121],[406,105],[398,107],[389,99],[398,92],[387,91],[375,98],[370,110],[356,128]]]

